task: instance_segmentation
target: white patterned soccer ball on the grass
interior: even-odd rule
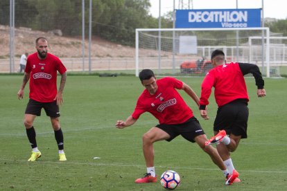
[[[160,183],[168,190],[173,190],[180,184],[180,175],[173,170],[167,170],[160,176]]]

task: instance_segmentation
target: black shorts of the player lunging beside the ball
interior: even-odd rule
[[[168,142],[173,140],[173,138],[181,135],[186,140],[189,140],[190,142],[194,143],[194,138],[196,136],[205,134],[205,131],[203,131],[202,127],[200,126],[200,123],[194,116],[181,124],[159,124],[156,127],[162,129],[163,131],[166,131],[166,133],[171,136],[171,138],[166,139]]]

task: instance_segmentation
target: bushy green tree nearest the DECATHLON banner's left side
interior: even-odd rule
[[[96,35],[105,39],[132,46],[135,29],[148,28],[155,22],[155,19],[148,15],[148,0],[123,0],[117,1],[116,5],[110,1],[105,2],[109,3],[108,10],[98,17],[95,29]]]

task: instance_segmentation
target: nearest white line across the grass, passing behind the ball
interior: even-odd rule
[[[12,162],[21,162],[21,163],[31,163],[26,160],[13,160],[0,158],[0,161],[12,161]],[[36,161],[33,163],[46,163],[46,164],[61,164],[61,165],[92,165],[92,166],[114,166],[114,167],[142,167],[145,168],[145,165],[136,165],[136,164],[115,164],[115,163],[87,163],[87,162],[69,162],[69,161]],[[166,166],[158,165],[157,167],[166,168]],[[202,168],[202,167],[176,167],[177,169],[185,170],[205,170],[205,171],[218,171],[218,168]],[[287,174],[286,171],[266,171],[266,170],[240,170],[240,172],[256,172],[256,173],[277,173],[277,174]]]

